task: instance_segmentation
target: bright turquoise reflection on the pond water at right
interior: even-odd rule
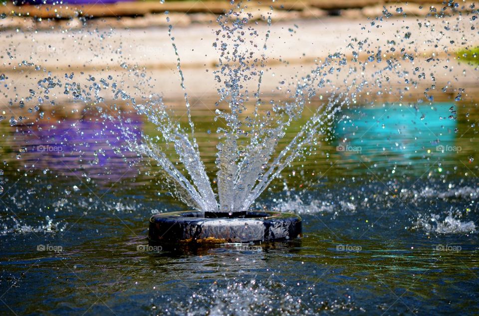
[[[347,118],[339,122],[336,130],[344,153],[360,154],[364,159],[384,155],[413,162],[425,154],[442,152],[442,147],[452,149],[456,145],[456,116],[441,116],[449,109],[455,111],[455,105],[384,104],[359,108],[345,113]]]

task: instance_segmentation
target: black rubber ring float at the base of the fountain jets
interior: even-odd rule
[[[148,238],[160,243],[233,243],[288,240],[300,237],[301,217],[293,213],[248,211],[239,217],[179,211],[153,215]]]

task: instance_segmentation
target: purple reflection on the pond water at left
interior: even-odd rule
[[[131,125],[139,135],[143,122],[139,117],[128,117],[125,124]],[[10,151],[27,169],[35,166],[44,174],[85,178],[87,183],[93,179],[103,184],[133,178],[137,174],[132,168],[137,161],[136,155],[124,150],[125,141],[120,137],[120,130],[113,122],[94,115],[64,118],[55,125],[39,121],[35,130],[28,125],[5,129],[11,133],[13,142],[4,139],[3,152]]]

